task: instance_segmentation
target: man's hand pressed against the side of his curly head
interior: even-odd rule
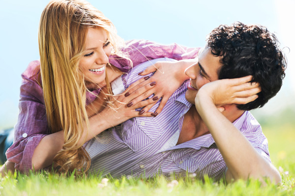
[[[261,91],[259,84],[250,83],[251,80],[252,76],[245,76],[207,83],[199,89],[195,102],[202,96],[212,100],[217,107],[225,104],[247,104],[257,99],[257,93]]]

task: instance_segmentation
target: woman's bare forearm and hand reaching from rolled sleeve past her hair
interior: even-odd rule
[[[146,100],[139,103],[134,103],[133,106],[127,107],[126,105],[135,98],[139,100],[144,100],[149,94],[145,94],[149,89],[153,88],[155,85],[140,85],[138,84],[145,81],[141,79],[132,85],[130,85],[124,93],[114,97],[114,102],[112,105],[108,105],[101,112],[96,113],[95,109],[102,105],[101,100],[97,98],[93,103],[88,106],[88,114],[91,116],[89,118],[89,129],[86,125],[83,126],[83,133],[81,139],[78,142],[78,145],[83,145],[86,141],[92,139],[96,135],[100,134],[104,130],[116,126],[129,118],[137,116],[151,116],[151,112],[147,112],[144,115],[140,115],[139,112],[135,111],[136,108],[141,108],[146,105],[156,102],[156,100]],[[129,96],[125,96],[125,93],[130,89],[135,89]],[[93,113],[94,112],[94,113]],[[63,140],[63,131],[57,133],[49,134],[45,136],[35,148],[32,159],[31,166],[32,169],[42,169],[52,165],[54,157],[61,150],[62,145],[64,144]]]

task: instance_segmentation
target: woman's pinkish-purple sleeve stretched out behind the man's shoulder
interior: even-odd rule
[[[191,59],[198,56],[200,48],[188,48],[176,43],[170,45],[158,44],[148,40],[130,40],[123,49],[133,62],[133,66],[155,58],[173,58],[176,60]],[[121,71],[127,72],[130,61],[118,56],[110,56],[110,63]]]

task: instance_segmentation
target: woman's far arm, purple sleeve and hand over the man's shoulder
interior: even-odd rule
[[[153,111],[156,115],[162,111],[169,97],[177,88],[185,80],[188,80],[188,77],[184,74],[184,70],[197,61],[196,57],[198,56],[199,50],[200,48],[188,48],[176,43],[163,45],[148,40],[130,40],[126,42],[126,47],[123,51],[130,56],[133,66],[137,66],[147,60],[162,57],[179,60],[178,62],[158,62],[141,73],[144,76],[157,71],[146,82],[156,82],[159,84],[156,86],[156,92],[159,98],[162,97],[162,100],[156,111]],[[117,56],[111,56],[110,63],[124,72],[128,71],[130,65],[127,59]],[[152,106],[147,106],[143,110],[149,111]]]

